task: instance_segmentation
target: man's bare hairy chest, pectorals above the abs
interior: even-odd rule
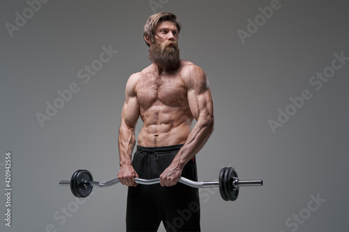
[[[137,98],[140,106],[147,109],[153,105],[187,105],[186,86],[179,76],[141,78],[137,85]]]

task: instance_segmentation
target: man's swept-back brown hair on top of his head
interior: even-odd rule
[[[143,33],[144,41],[148,45],[148,47],[150,47],[150,44],[149,42],[147,42],[147,40],[145,40],[145,38],[147,38],[151,42],[155,42],[156,26],[158,26],[158,23],[162,21],[173,22],[177,26],[178,33],[179,31],[181,31],[181,25],[179,24],[179,22],[177,22],[176,15],[172,13],[166,13],[166,12],[150,15],[150,17],[147,20],[147,23],[144,25],[144,33]]]

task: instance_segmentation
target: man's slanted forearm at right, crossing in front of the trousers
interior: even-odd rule
[[[214,130],[214,117],[200,117],[195,123],[193,130],[188,135],[186,143],[181,147],[181,150],[174,157],[172,164],[178,169],[183,169],[184,165],[191,160],[206,144]]]

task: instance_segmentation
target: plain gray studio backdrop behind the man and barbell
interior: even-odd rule
[[[183,26],[181,59],[207,72],[214,97],[215,130],[198,154],[199,180],[216,180],[232,166],[239,178],[265,181],[240,190],[235,202],[223,201],[218,189],[200,190],[202,231],[346,230],[349,63],[320,90],[309,84],[334,53],[349,56],[346,1],[281,0],[244,44],[237,30],[246,31],[246,20],[270,1],[161,2],[155,11],[176,14]],[[95,180],[116,178],[124,87],[149,65],[142,27],[154,11],[149,1],[49,1],[10,37],[6,22],[15,24],[15,12],[28,7],[1,1],[0,231],[124,231],[126,187],[94,189],[63,221],[54,219],[57,211],[77,204],[58,182],[77,169]],[[77,72],[109,45],[119,52],[85,84]],[[42,127],[36,113],[45,114],[45,102],[72,82],[80,91]],[[268,120],[304,89],[312,98],[274,134]],[[3,219],[6,151],[13,158],[11,228]],[[326,201],[307,215],[311,195]],[[300,212],[302,224],[285,224]]]

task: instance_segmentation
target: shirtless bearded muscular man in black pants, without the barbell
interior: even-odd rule
[[[205,72],[179,59],[181,26],[171,13],[151,15],[144,40],[151,65],[129,77],[119,127],[120,171],[128,187],[127,231],[200,231],[198,189],[177,181],[197,180],[195,154],[214,130],[213,101]],[[143,127],[135,146],[135,126]],[[191,130],[193,119],[197,122]],[[138,185],[135,178],[158,178]]]

